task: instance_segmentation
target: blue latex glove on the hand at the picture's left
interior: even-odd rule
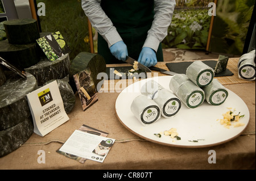
[[[128,56],[128,50],[126,44],[123,41],[118,41],[113,44],[110,48],[110,52],[117,58],[118,60],[126,61],[126,57]]]

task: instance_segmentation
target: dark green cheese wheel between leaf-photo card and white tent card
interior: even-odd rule
[[[68,75],[70,68],[69,54],[65,54],[55,61],[49,61],[45,56],[38,64],[26,68],[28,73],[35,76],[38,86],[42,86],[52,79],[61,79]]]

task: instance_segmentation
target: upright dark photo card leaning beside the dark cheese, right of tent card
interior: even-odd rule
[[[85,111],[98,101],[96,87],[93,78],[91,77],[91,71],[87,68],[73,75],[73,78],[81,100],[82,110]]]

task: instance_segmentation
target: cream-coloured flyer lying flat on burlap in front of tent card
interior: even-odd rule
[[[102,163],[114,141],[112,138],[76,130],[59,150]]]

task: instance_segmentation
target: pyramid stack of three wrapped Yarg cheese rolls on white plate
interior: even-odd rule
[[[170,89],[188,107],[196,108],[207,100],[218,106],[225,102],[228,91],[214,78],[214,70],[201,61],[193,62],[186,74],[177,74],[170,81]]]

